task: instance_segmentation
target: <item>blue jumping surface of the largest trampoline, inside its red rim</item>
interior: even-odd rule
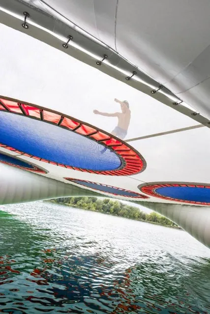
[[[95,171],[121,166],[118,155],[100,143],[18,114],[0,112],[0,143],[66,166]]]

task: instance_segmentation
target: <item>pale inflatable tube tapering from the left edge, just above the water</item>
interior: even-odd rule
[[[101,197],[97,193],[71,184],[0,164],[1,205],[70,196]]]

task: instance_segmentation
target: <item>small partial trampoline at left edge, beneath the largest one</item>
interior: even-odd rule
[[[25,161],[22,161],[20,159],[14,158],[12,156],[4,155],[0,153],[0,162],[9,166],[13,166],[16,168],[36,172],[36,173],[47,173],[47,171],[44,171],[34,165],[31,165]]]

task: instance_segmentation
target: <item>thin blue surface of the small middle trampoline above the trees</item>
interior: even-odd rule
[[[134,192],[129,192],[129,191],[123,191],[123,190],[119,190],[110,186],[104,186],[104,185],[100,185],[100,184],[96,184],[94,182],[85,182],[85,181],[81,181],[81,180],[71,180],[75,183],[78,184],[82,184],[84,186],[87,186],[91,189],[95,189],[101,192],[106,192],[106,193],[112,193],[112,194],[117,194],[117,195],[121,195],[121,196],[128,196],[128,197],[138,197],[139,194],[138,193],[134,193]]]

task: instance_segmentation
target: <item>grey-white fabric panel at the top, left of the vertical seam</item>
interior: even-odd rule
[[[72,23],[115,49],[117,0],[24,0],[52,14],[48,5]]]

